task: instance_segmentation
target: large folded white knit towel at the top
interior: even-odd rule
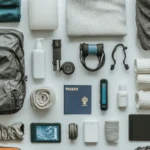
[[[125,0],[67,0],[67,34],[126,35]]]

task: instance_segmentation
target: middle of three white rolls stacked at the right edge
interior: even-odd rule
[[[150,84],[149,74],[138,74],[136,78],[137,84]]]

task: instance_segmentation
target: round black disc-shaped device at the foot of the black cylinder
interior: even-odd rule
[[[62,70],[66,75],[71,75],[75,71],[75,65],[72,62],[65,62],[61,66],[60,70]]]

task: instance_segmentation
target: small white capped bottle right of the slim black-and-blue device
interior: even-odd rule
[[[118,107],[125,108],[128,106],[128,92],[126,85],[119,86],[118,92]]]

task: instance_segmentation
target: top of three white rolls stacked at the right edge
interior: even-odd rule
[[[137,74],[150,73],[150,59],[136,59],[135,60],[135,72]]]

